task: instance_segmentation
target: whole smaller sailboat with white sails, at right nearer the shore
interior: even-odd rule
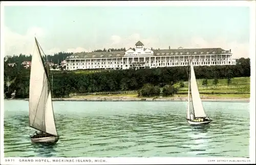
[[[206,116],[197,87],[193,62],[190,59],[188,76],[187,122],[191,125],[209,124],[212,120]]]

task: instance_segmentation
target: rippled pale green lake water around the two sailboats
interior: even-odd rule
[[[28,101],[4,103],[5,157],[249,156],[248,102],[203,102],[214,121],[195,127],[181,101],[54,101],[51,146],[31,143]]]

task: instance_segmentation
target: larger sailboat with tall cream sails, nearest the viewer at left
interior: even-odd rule
[[[54,144],[59,136],[53,113],[51,84],[39,47],[35,38],[29,85],[29,124],[39,133],[36,131],[30,138],[33,143]]]

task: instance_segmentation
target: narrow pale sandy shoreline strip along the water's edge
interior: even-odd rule
[[[5,100],[26,100],[25,99],[5,99]],[[218,98],[203,97],[203,102],[250,102],[250,98]],[[52,101],[187,101],[187,97],[118,97],[118,96],[98,96],[98,97],[70,97],[70,98],[52,98]]]

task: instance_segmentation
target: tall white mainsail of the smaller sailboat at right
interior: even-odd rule
[[[200,98],[200,94],[198,91],[197,79],[192,62],[190,63],[190,86],[195,117],[206,117],[203,104]]]

